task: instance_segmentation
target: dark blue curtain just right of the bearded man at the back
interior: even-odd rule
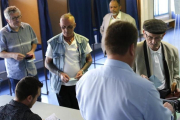
[[[139,30],[137,0],[126,0],[126,13],[136,20],[136,26]]]

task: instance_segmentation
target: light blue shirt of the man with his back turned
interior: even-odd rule
[[[88,71],[76,85],[85,120],[170,120],[154,85],[121,61]]]

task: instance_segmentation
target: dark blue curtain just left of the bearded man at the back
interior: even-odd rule
[[[103,17],[109,13],[109,2],[110,0],[94,0],[94,15],[96,22],[96,34],[98,43],[101,42],[100,27],[103,22]]]

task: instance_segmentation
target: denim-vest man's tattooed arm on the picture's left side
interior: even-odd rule
[[[53,59],[46,57],[45,59],[45,67],[52,73],[58,75],[61,80],[65,83],[69,82],[69,76],[64,73],[63,71],[60,71],[54,64],[53,64]]]

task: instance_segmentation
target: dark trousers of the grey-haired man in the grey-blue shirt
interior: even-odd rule
[[[35,75],[34,77],[39,80],[38,75]],[[17,85],[17,83],[18,83],[20,80],[13,79],[13,78],[9,78],[9,80],[10,80],[10,82],[11,82],[11,89],[12,89],[13,93],[15,93],[16,85]],[[37,98],[37,101],[41,102],[41,94],[40,94],[40,96]]]

